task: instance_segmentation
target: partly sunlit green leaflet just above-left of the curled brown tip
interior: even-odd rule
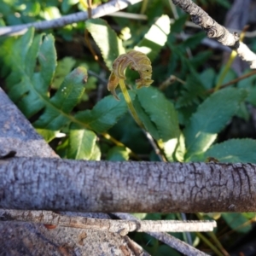
[[[108,23],[102,19],[90,19],[85,21],[86,29],[90,32],[98,47],[101,49],[102,57],[112,70],[113,61],[125,53],[122,40],[118,38]]]

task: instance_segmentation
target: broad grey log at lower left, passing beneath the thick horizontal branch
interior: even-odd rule
[[[0,156],[15,150],[18,156],[57,157],[0,88]],[[0,157],[1,158],[1,157]],[[61,212],[74,216],[73,212]],[[76,213],[109,218],[103,213]],[[148,255],[127,236],[98,230],[0,221],[0,255]]]

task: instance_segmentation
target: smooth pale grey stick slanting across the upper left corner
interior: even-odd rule
[[[100,5],[96,9],[92,9],[91,17],[99,18],[105,15],[109,15],[116,11],[119,11],[120,9],[125,9],[128,5],[139,3],[141,1],[142,0],[113,0],[109,3]],[[4,26],[0,28],[0,36],[24,34],[31,26],[34,26],[36,30],[45,30],[49,28],[66,26],[67,24],[76,23],[86,19],[88,19],[88,13],[79,12],[73,15],[66,15],[55,20],[44,20],[17,26]]]

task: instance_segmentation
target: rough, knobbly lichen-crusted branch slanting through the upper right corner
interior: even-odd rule
[[[172,0],[172,2],[191,15],[191,20],[207,32],[208,38],[215,38],[219,43],[235,49],[243,61],[247,61],[251,68],[256,68],[256,55],[246,44],[239,42],[237,33],[230,33],[224,26],[219,25],[192,0]]]

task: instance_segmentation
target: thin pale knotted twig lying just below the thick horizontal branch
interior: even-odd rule
[[[84,218],[60,215],[48,211],[1,210],[0,220],[22,221],[88,230],[107,230],[126,236],[129,232],[205,232],[216,227],[215,221],[178,221],[178,220],[113,220]]]

